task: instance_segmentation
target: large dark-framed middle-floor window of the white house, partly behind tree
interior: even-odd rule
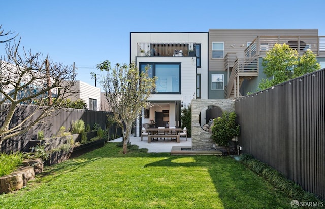
[[[157,94],[180,94],[181,93],[181,64],[180,63],[140,63],[140,70],[148,71],[150,77],[157,77]]]

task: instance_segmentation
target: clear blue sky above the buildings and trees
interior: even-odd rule
[[[325,35],[324,0],[11,0],[0,24],[32,52],[79,68],[77,79],[104,60],[129,63],[130,32],[208,32],[209,29],[318,29]],[[4,55],[4,44],[0,55]]]

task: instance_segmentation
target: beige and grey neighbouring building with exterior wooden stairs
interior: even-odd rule
[[[307,49],[325,67],[325,36],[317,29],[210,29],[209,99],[233,99],[255,92],[266,78],[262,58],[275,43],[302,55]]]

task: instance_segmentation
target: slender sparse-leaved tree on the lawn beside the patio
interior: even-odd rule
[[[133,122],[140,115],[142,108],[148,105],[147,99],[155,89],[155,78],[148,76],[148,69],[140,74],[134,63],[130,65],[117,63],[111,68],[111,63],[106,60],[97,65],[97,68],[101,70],[101,85],[105,90],[114,120],[122,128],[125,154]]]

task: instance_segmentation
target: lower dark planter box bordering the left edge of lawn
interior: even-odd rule
[[[80,146],[72,147],[68,152],[62,150],[60,152],[54,152],[49,156],[49,159],[44,162],[46,165],[53,165],[63,162],[67,159],[77,157],[84,153],[103,147],[105,144],[104,139],[82,144]]]

